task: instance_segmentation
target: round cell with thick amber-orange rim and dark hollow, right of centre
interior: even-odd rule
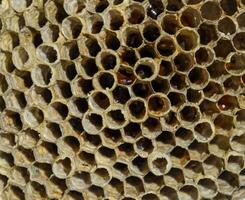
[[[163,116],[170,109],[170,101],[167,96],[155,93],[148,99],[148,111],[153,116]]]

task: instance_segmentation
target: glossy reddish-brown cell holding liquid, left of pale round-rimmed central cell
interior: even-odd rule
[[[131,67],[121,65],[117,71],[117,81],[122,85],[131,85],[135,81],[135,75]]]

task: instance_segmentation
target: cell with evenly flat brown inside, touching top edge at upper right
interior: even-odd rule
[[[221,17],[222,10],[218,2],[207,1],[201,7],[202,17],[208,20],[218,20]]]

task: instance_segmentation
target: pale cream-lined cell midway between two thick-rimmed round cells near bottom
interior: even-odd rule
[[[105,186],[111,180],[109,169],[98,167],[91,173],[91,181],[94,185]]]

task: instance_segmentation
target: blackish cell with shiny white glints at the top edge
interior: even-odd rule
[[[157,19],[164,11],[164,4],[161,0],[149,0],[149,6],[147,8],[147,15],[152,19]]]

